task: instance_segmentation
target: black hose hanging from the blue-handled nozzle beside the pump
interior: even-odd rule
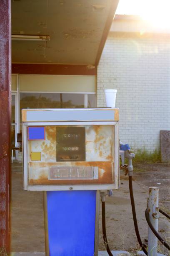
[[[141,241],[140,233],[139,233],[139,229],[138,229],[138,222],[137,222],[136,210],[135,210],[135,202],[134,202],[134,197],[133,197],[132,176],[129,176],[129,192],[130,192],[130,201],[131,201],[131,205],[132,205],[133,222],[134,222],[134,226],[135,226],[136,237],[138,239],[138,243],[139,243],[141,249],[143,250],[143,252],[146,255],[148,255],[148,252],[146,251],[145,246],[144,246],[143,242]]]

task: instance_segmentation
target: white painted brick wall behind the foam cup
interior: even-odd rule
[[[117,89],[121,141],[159,149],[160,130],[170,130],[170,38],[108,38],[97,70],[97,107],[105,107],[105,88]]]

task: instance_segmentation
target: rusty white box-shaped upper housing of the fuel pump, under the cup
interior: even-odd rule
[[[117,189],[119,110],[23,109],[25,190]]]

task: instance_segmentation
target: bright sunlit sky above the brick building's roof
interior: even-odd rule
[[[116,14],[140,15],[157,27],[170,27],[170,0],[120,0]]]

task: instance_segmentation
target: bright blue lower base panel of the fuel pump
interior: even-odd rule
[[[96,190],[47,191],[49,256],[95,255]],[[46,255],[47,256],[47,255]]]

